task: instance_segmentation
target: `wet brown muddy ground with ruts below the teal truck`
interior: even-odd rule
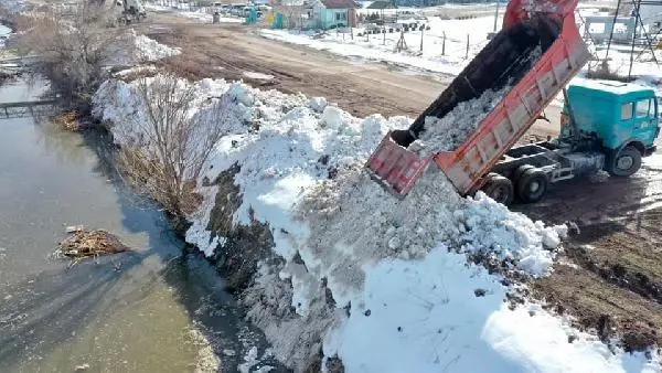
[[[552,276],[531,283],[534,297],[628,350],[662,345],[660,171],[649,161],[634,177],[567,182],[537,204],[515,207],[578,226]]]

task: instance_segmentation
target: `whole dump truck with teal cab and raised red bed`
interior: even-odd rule
[[[430,164],[457,191],[484,191],[498,202],[538,201],[551,183],[606,170],[634,173],[654,151],[659,103],[654,92],[620,83],[580,82],[565,87],[590,58],[575,22],[577,0],[511,0],[503,26],[406,130],[389,131],[365,168],[398,198],[405,198]],[[515,146],[564,94],[558,138]],[[499,93],[498,104],[453,149],[431,153],[414,145],[460,105]]]

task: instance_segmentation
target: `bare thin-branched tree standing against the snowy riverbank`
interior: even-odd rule
[[[145,116],[116,130],[122,137],[120,173],[175,216],[193,212],[196,180],[225,135],[229,98],[195,104],[194,86],[175,75],[142,78]],[[191,114],[195,113],[195,114]]]

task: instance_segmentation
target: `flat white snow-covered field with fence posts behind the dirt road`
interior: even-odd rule
[[[417,12],[420,12],[420,10],[417,10]],[[590,4],[586,4],[581,10],[583,15],[591,13],[596,13],[596,9],[591,8]],[[339,32],[335,30],[330,30],[321,38],[313,38],[312,32],[288,30],[260,30],[260,34],[268,39],[324,50],[342,56],[385,62],[413,71],[457,75],[488,43],[487,36],[489,32],[493,31],[494,17],[442,20],[439,17],[428,14],[427,20],[408,20],[406,22],[419,22],[419,24],[423,22],[430,26],[429,31],[424,31],[423,52],[420,52],[420,31],[405,33],[408,49],[401,52],[396,51],[399,33],[357,36],[359,33],[365,32],[363,28],[353,30],[353,40],[350,38],[349,31]],[[501,23],[502,19],[500,18],[498,20],[499,28]],[[446,35],[445,54],[442,54],[444,35]],[[469,40],[468,53],[467,40]],[[591,49],[598,57],[605,56],[605,45],[591,46]],[[612,45],[609,56],[611,58],[610,66],[619,75],[627,76],[630,64],[630,47],[627,45]],[[656,57],[658,61],[662,61],[662,51],[656,52]],[[584,68],[583,74],[587,72],[587,68]],[[645,79],[650,84],[662,79],[662,68],[652,62],[649,52],[643,54],[643,58],[634,62],[632,75]]]

